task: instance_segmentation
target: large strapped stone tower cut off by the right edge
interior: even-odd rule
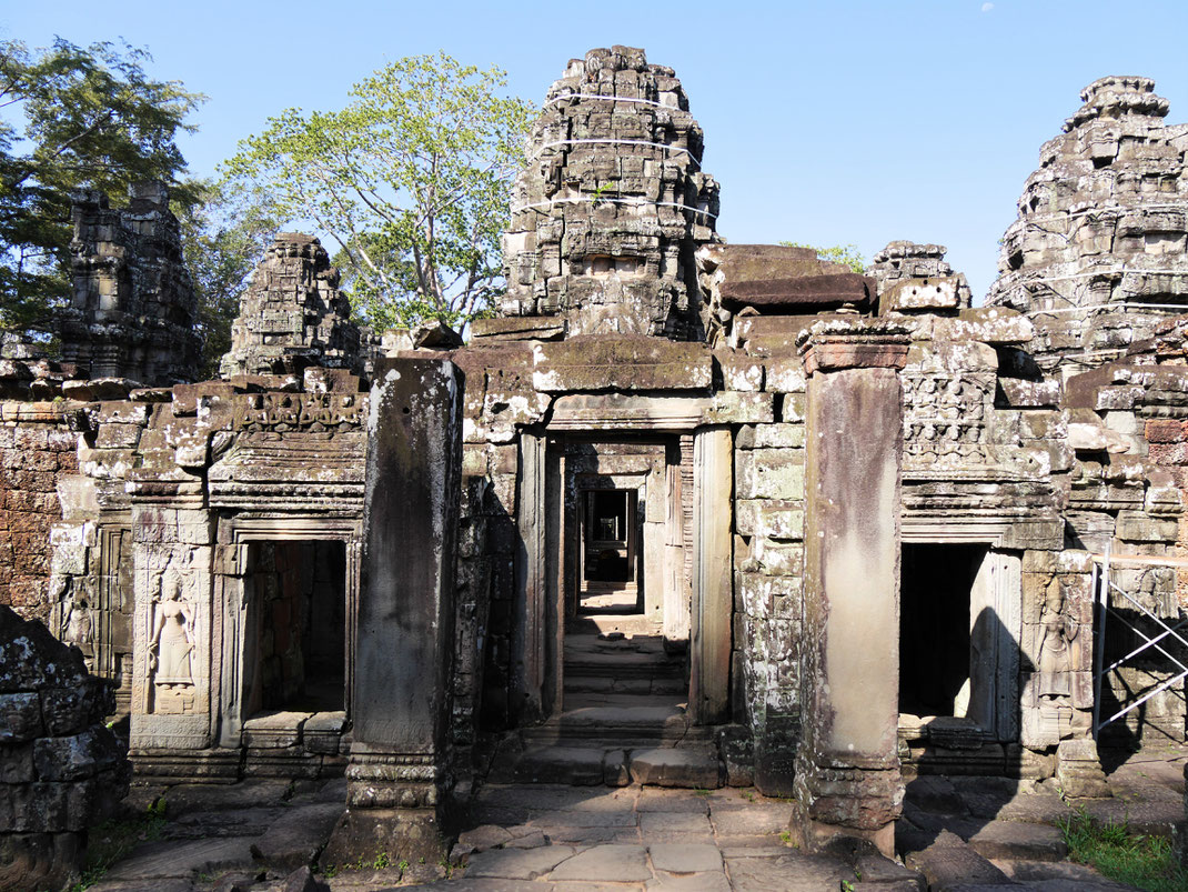
[[[1154,88],[1146,77],[1086,87],[1003,238],[987,302],[1032,315],[1044,369],[1110,362],[1188,306],[1188,126],[1164,125]]]

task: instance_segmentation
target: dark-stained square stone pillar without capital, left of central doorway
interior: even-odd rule
[[[366,542],[354,634],[354,741],[335,863],[386,852],[436,863],[448,787],[454,572],[461,480],[460,375],[383,359],[371,391]]]

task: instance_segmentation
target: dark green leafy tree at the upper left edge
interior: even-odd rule
[[[119,202],[131,183],[164,180],[181,205],[196,199],[177,182],[176,137],[204,98],[150,78],[150,61],[127,44],[0,42],[0,326],[45,327],[69,293],[71,191]]]

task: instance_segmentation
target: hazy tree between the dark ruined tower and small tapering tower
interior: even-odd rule
[[[219,373],[230,350],[230,323],[252,271],[280,228],[276,208],[260,191],[203,183],[198,201],[175,207],[182,224],[182,250],[198,302],[204,343],[202,377]]]

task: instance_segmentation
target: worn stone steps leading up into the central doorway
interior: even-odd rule
[[[721,786],[713,729],[690,723],[688,689],[687,654],[668,653],[643,615],[570,620],[562,712],[505,742],[491,780]]]

